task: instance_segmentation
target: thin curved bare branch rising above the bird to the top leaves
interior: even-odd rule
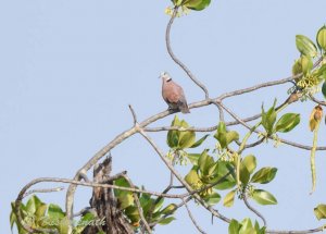
[[[195,75],[190,72],[190,70],[180,61],[176,58],[176,56],[174,54],[172,48],[171,48],[171,41],[170,41],[170,33],[171,33],[171,26],[174,22],[174,19],[176,17],[178,13],[178,7],[175,7],[174,8],[174,11],[173,11],[173,14],[168,21],[168,24],[166,26],[166,32],[165,32],[165,44],[166,44],[166,49],[167,49],[167,52],[168,54],[171,56],[171,58],[173,59],[173,61],[178,64],[186,73],[187,75],[189,76],[189,78],[191,78],[191,81],[198,85],[204,93],[205,93],[205,99],[209,99],[210,96],[209,96],[209,91],[206,89],[206,87],[201,83],[199,82]]]

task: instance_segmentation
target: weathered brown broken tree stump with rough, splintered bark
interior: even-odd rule
[[[106,158],[102,163],[95,167],[93,181],[102,183],[110,178],[112,170],[112,158]],[[110,180],[109,180],[110,181]],[[113,182],[108,182],[112,184]],[[118,209],[113,189],[95,187],[89,201],[90,207],[96,211],[97,219],[103,219],[103,225],[88,225],[82,234],[97,234],[103,231],[106,234],[134,234],[133,227]]]

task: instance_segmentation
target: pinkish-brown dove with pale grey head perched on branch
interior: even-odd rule
[[[172,81],[167,72],[161,73],[162,78],[162,97],[168,104],[168,109],[190,113],[184,89]]]

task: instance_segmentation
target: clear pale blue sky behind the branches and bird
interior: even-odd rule
[[[168,71],[186,93],[188,102],[203,99],[167,56],[164,32],[168,16],[165,1],[2,1],[0,3],[0,233],[9,233],[10,202],[30,180],[40,176],[73,177],[97,150],[133,124],[127,106],[143,120],[166,109],[156,78]],[[315,38],[325,24],[324,0],[212,1],[203,12],[177,19],[172,29],[175,53],[204,83],[212,97],[290,75],[299,53],[294,36]],[[240,116],[260,112],[287,96],[290,84],[227,100]],[[301,113],[301,124],[285,138],[312,143],[308,128],[311,102],[298,102],[289,111]],[[179,114],[180,115],[180,114]],[[211,126],[218,122],[214,107],[180,115],[190,124]],[[168,125],[173,116],[153,124]],[[229,116],[227,116],[230,120]],[[237,128],[241,130],[241,128]],[[240,131],[243,136],[243,131]],[[319,145],[326,145],[325,125]],[[165,134],[153,137],[165,146]],[[255,137],[252,138],[253,140]],[[211,143],[211,145],[210,145]],[[208,140],[203,147],[212,147]],[[268,227],[310,229],[322,225],[313,208],[326,202],[326,159],[318,152],[317,188],[313,195],[309,151],[273,143],[249,150],[259,167],[278,168],[265,189],[278,206],[254,207],[266,217]],[[140,136],[112,150],[114,172],[127,170],[135,184],[161,190],[168,171]],[[188,169],[178,168],[183,173]],[[42,184],[39,187],[51,187]],[[222,193],[223,194],[223,193]],[[88,205],[91,193],[80,188],[75,209]],[[65,193],[39,195],[47,202],[64,205]],[[218,220],[190,206],[208,233],[225,232]],[[252,217],[240,200],[231,209],[217,205],[227,217]],[[156,233],[197,233],[185,210],[177,221],[158,226]]]

